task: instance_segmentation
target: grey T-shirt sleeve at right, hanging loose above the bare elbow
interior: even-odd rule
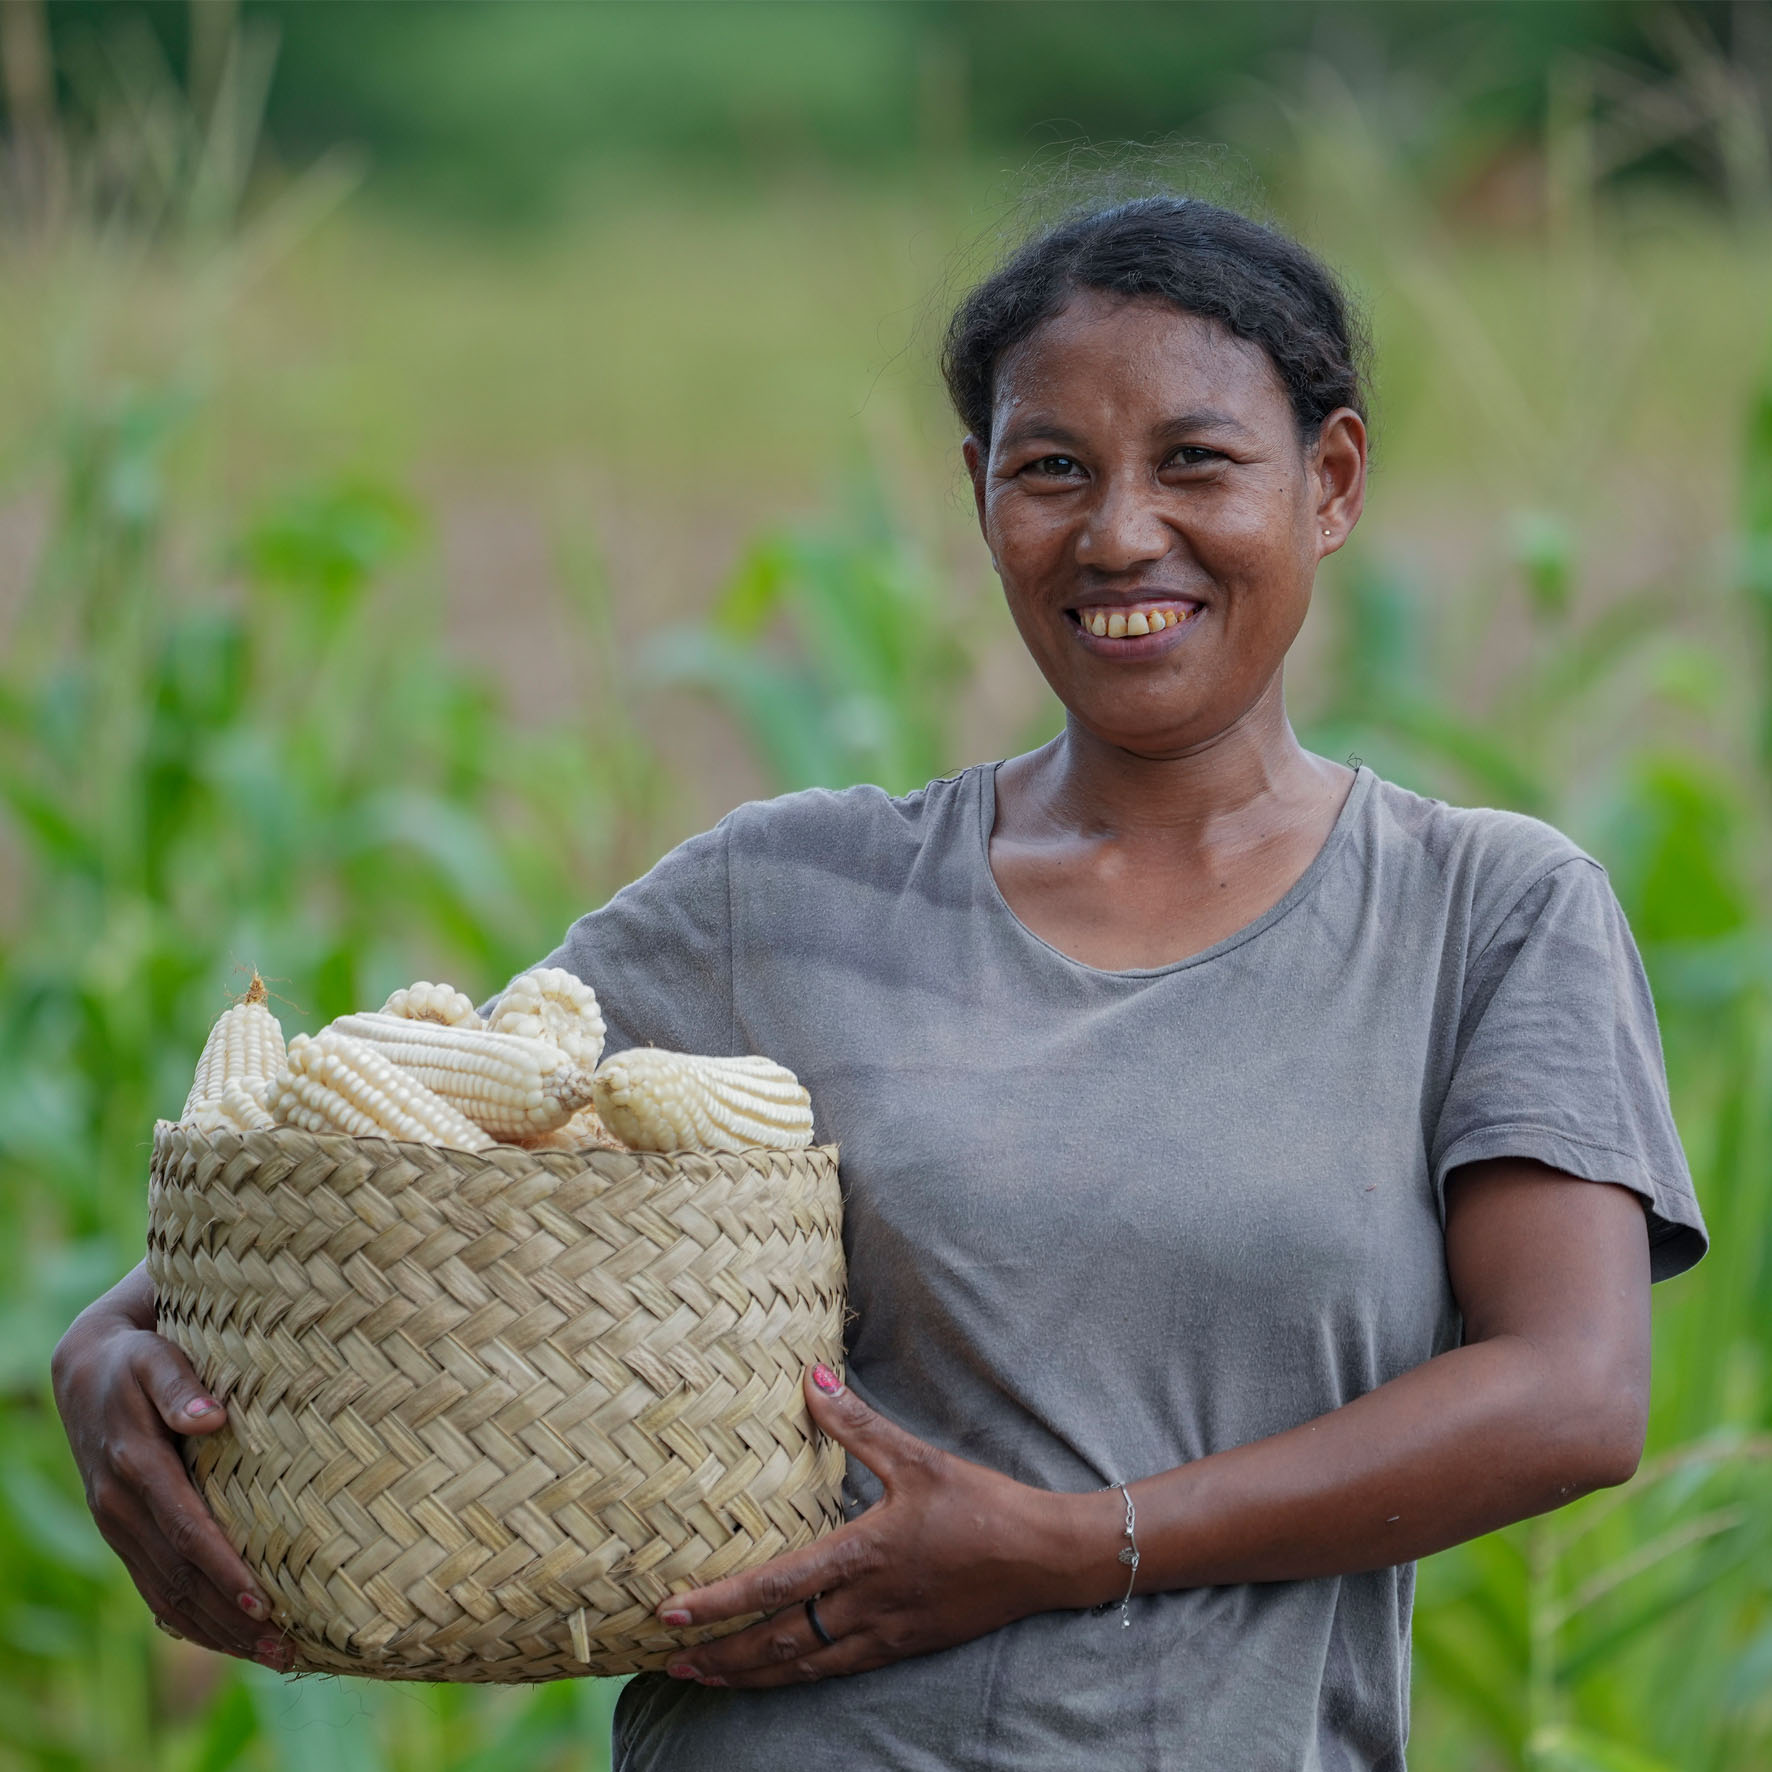
[[[1533,1157],[1639,1194],[1655,1279],[1705,1253],[1648,978],[1589,858],[1533,882],[1469,962],[1430,1157],[1442,1209],[1460,1164]]]

